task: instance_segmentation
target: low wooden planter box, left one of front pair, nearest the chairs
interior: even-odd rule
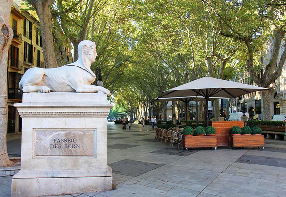
[[[207,148],[211,147],[216,150],[216,136],[183,136],[183,147],[188,148]]]

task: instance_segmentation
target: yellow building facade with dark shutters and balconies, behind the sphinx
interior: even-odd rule
[[[39,21],[29,12],[21,11],[20,7],[21,0],[14,0],[9,19],[14,36],[8,54],[7,134],[21,132],[22,120],[13,106],[22,101],[22,91],[19,89],[21,77],[31,67],[45,67]]]

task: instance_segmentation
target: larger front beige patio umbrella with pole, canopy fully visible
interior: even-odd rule
[[[208,125],[209,123],[208,102],[207,102],[208,98],[210,97],[236,98],[247,93],[262,91],[262,90],[269,90],[269,89],[243,83],[227,81],[223,79],[216,79],[213,77],[202,77],[200,79],[191,81],[189,83],[166,90],[158,98],[188,97],[188,96],[204,97],[206,100],[206,110],[207,110],[206,118]]]

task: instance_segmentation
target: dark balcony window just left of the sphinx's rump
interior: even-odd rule
[[[19,82],[22,74],[17,72],[9,72],[8,98],[22,99],[22,91],[19,89]]]

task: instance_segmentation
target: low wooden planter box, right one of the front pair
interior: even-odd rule
[[[264,149],[264,135],[231,135],[229,136],[230,147],[261,147]]]

